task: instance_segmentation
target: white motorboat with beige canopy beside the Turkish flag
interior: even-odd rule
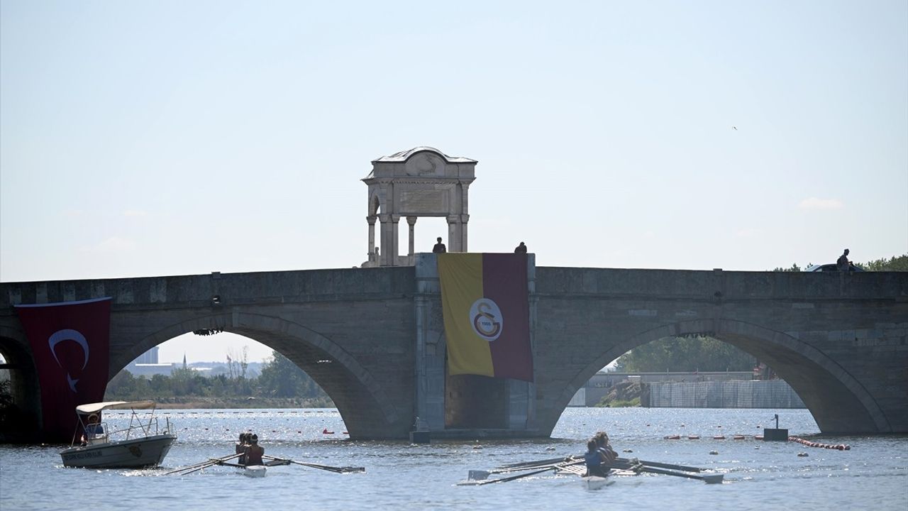
[[[141,468],[158,466],[170,451],[176,435],[171,433],[170,419],[158,428],[153,401],[107,401],[75,407],[79,418],[79,437],[60,452],[64,466],[89,468]],[[103,420],[104,410],[132,410],[129,426],[112,431]],[[137,410],[141,411],[137,413]],[[79,430],[83,433],[79,435]]]

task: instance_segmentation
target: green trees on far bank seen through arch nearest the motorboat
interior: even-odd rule
[[[133,376],[123,369],[107,384],[104,399],[276,397],[306,399],[315,403],[313,406],[333,406],[331,398],[315,380],[277,351],[271,352],[271,359],[262,366],[259,376],[247,377],[244,364],[239,365],[241,370],[211,377],[202,376],[188,367],[174,368],[170,376],[154,375],[151,378]]]

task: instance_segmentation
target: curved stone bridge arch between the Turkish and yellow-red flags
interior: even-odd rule
[[[226,312],[195,316],[164,326],[144,336],[115,360],[112,356],[111,377],[153,346],[187,332],[215,328],[252,338],[277,350],[299,366],[331,396],[351,439],[370,437],[360,431],[360,425],[368,424],[360,417],[367,416],[371,422],[382,417],[388,425],[403,418],[403,411],[397,409],[381,382],[361,366],[354,356],[327,336],[275,316]]]

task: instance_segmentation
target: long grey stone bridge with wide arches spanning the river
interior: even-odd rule
[[[331,396],[353,439],[549,436],[597,370],[705,334],[771,366],[826,434],[908,432],[908,273],[536,267],[535,382],[448,376],[435,257],[415,266],[0,284],[0,353],[38,414],[13,305],[112,296],[108,377],[152,346],[222,329],[278,350]],[[216,297],[216,298],[215,298]]]

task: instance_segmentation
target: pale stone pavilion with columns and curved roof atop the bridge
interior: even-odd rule
[[[413,266],[414,233],[419,216],[441,216],[448,222],[449,252],[467,252],[469,185],[478,162],[445,155],[420,145],[372,161],[369,186],[369,260],[361,266]],[[408,225],[407,255],[400,255],[400,219]],[[379,254],[375,255],[375,224],[379,223]]]

